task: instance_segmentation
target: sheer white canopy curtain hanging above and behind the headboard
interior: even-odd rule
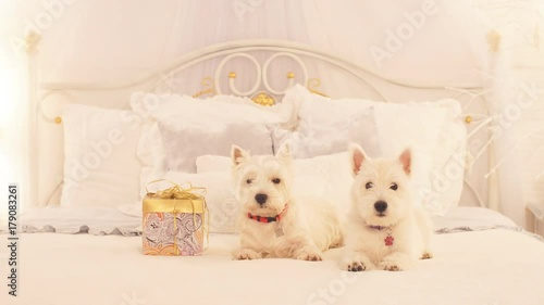
[[[137,77],[212,43],[284,39],[316,46],[410,84],[470,86],[485,80],[490,88],[495,85],[489,77],[496,73],[485,40],[489,28],[471,1],[26,0],[2,1],[0,5],[2,46],[12,58],[24,53],[17,42],[26,31],[41,35],[42,81],[115,81]],[[357,93],[345,88],[349,85],[334,80],[324,86],[332,96],[343,87],[347,89],[344,92]],[[188,89],[187,93],[200,90]],[[0,94],[11,107],[21,106],[21,100],[7,97],[4,90]],[[493,100],[497,106],[491,115],[499,115],[507,101],[500,94]],[[27,117],[27,107],[21,106],[2,122],[1,135],[7,135],[9,126],[24,139],[27,134],[17,124]],[[1,139],[5,151],[9,140],[5,136]],[[500,136],[493,143],[507,148],[509,141]],[[21,155],[23,150],[9,147],[12,155]],[[498,195],[484,204],[508,212],[521,224],[522,196],[511,187],[517,185],[516,161],[505,150],[497,153],[502,166],[490,177],[500,178],[500,183],[495,183]],[[24,168],[5,158],[3,163],[17,166],[20,171]],[[482,175],[481,179],[490,177]],[[17,179],[25,183],[24,178]]]

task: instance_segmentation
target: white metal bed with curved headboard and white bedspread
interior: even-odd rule
[[[35,47],[28,48],[34,64]],[[257,55],[249,55],[254,53]],[[247,81],[246,87],[254,88],[246,92],[234,89],[239,86],[235,85],[236,75],[223,69],[235,56],[249,59],[257,69],[256,85]],[[270,59],[276,56],[300,64],[298,72],[288,71],[285,78],[282,71],[282,79],[268,75]],[[311,61],[318,63],[307,68]],[[420,260],[413,269],[403,272],[341,271],[337,265],[341,249],[327,251],[325,259],[319,263],[236,262],[230,255],[237,243],[235,233],[212,233],[202,256],[146,256],[141,254],[138,236],[140,218],[127,215],[139,213],[138,203],[129,206],[132,209],[77,206],[84,199],[62,203],[66,196],[60,195],[63,190],[59,182],[63,180],[63,155],[67,150],[63,148],[62,124],[54,124],[64,120],[61,104],[128,109],[134,91],[157,90],[157,84],[164,78],[193,75],[205,63],[208,68],[213,66],[214,73],[201,68],[203,75],[193,77],[191,81],[207,74],[213,75],[213,80],[205,80],[200,92],[189,92],[198,97],[221,93],[221,88],[226,87],[228,92],[250,98],[267,91],[271,94],[261,96],[260,101],[270,102],[272,98],[279,101],[285,90],[271,88],[289,87],[295,81],[302,82],[313,93],[331,94],[329,91],[335,90],[327,90],[327,79],[343,77],[346,86],[357,88],[358,97],[369,99],[458,98],[462,115],[455,117],[459,120],[456,124],[467,124],[467,134],[474,136],[470,141],[487,142],[489,132],[481,128],[484,125],[469,124],[480,120],[485,124],[487,110],[483,96],[474,99],[458,94],[459,90],[482,90],[478,84],[418,85],[386,79],[349,61],[288,41],[211,46],[184,55],[149,76],[120,84],[38,86],[37,78],[32,77],[32,101],[40,110],[39,114],[29,114],[36,118],[29,156],[34,177],[29,202],[34,207],[26,208],[18,223],[18,295],[13,297],[2,290],[1,304],[544,304],[542,239],[527,233],[497,212],[478,207],[496,195],[495,182],[482,179],[482,173],[494,165],[493,147],[477,148],[471,171],[461,178],[457,198],[450,204],[456,206],[447,206],[444,216],[433,218],[437,232],[434,258]],[[311,80],[323,71],[326,74],[319,80]],[[296,79],[295,75],[302,77]],[[183,90],[175,89],[182,93]],[[342,97],[342,92],[333,93]],[[45,149],[37,150],[38,147]],[[467,206],[457,206],[459,202]],[[0,247],[0,275],[4,280],[9,255],[5,246]]]

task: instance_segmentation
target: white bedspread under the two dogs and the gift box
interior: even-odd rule
[[[237,262],[236,236],[210,238],[203,256],[166,257],[141,255],[138,237],[22,234],[16,297],[0,246],[0,304],[544,304],[544,243],[511,230],[437,234],[415,269],[360,274],[338,269],[341,250]]]

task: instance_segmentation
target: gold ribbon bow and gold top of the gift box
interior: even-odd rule
[[[149,185],[166,181],[173,185],[173,187],[158,191],[156,193],[149,192]],[[188,185],[187,188],[182,186]],[[176,215],[180,213],[191,213],[193,214],[193,224],[195,228],[197,228],[197,218],[196,214],[202,214],[202,226],[203,231],[206,233],[206,241],[202,250],[208,247],[209,240],[209,223],[210,217],[208,216],[208,205],[206,204],[206,198],[203,194],[206,193],[206,188],[201,187],[193,187],[190,182],[186,182],[183,185],[177,185],[173,181],[166,179],[153,180],[146,186],[147,198],[144,201],[144,213],[152,213],[152,212],[166,212],[172,213],[174,215],[174,232],[177,231],[177,217]],[[165,201],[166,200],[166,201]],[[190,203],[190,204],[187,204]],[[206,218],[206,221],[205,221]],[[177,249],[177,240],[174,236],[174,249],[175,255],[180,255],[180,250]]]

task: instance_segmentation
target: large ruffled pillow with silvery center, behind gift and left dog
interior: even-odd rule
[[[227,155],[235,140],[240,144],[250,143],[250,148],[260,153],[272,153],[271,131],[267,126],[292,119],[286,107],[260,106],[247,98],[231,96],[198,100],[135,92],[131,106],[144,118],[137,150],[143,175],[153,177],[171,169],[194,173],[198,155]],[[236,135],[231,134],[232,128]],[[140,178],[150,179],[150,176]]]

